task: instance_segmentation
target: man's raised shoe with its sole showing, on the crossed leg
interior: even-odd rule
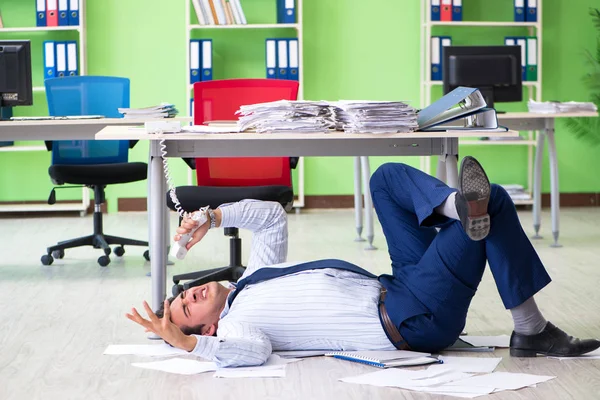
[[[463,158],[458,175],[456,211],[467,236],[472,240],[485,239],[490,233],[490,181],[483,167],[473,157]]]

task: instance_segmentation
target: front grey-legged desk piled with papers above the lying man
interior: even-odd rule
[[[150,229],[150,264],[152,275],[152,308],[158,309],[166,294],[166,232],[165,218],[167,187],[163,175],[160,140],[165,139],[167,157],[263,157],[285,156],[423,156],[448,158],[447,175],[450,183],[458,180],[458,137],[481,136],[481,132],[401,133],[401,134],[147,134],[126,126],[109,126],[96,139],[149,140],[148,203]],[[517,136],[514,131],[503,136]]]

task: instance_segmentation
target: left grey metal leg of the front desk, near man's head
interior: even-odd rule
[[[158,141],[150,141],[151,153],[158,154]],[[155,151],[153,150],[155,147]],[[166,252],[166,228],[165,209],[166,204],[166,182],[162,171],[162,159],[151,156],[148,164],[148,175],[150,177],[148,202],[150,208],[150,273],[152,275],[152,309],[157,310],[165,299],[167,284],[167,252]]]

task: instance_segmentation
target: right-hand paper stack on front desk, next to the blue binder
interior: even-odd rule
[[[334,115],[349,133],[413,132],[418,128],[417,111],[401,101],[339,101]]]

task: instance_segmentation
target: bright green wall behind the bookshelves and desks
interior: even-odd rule
[[[185,109],[185,0],[87,0],[88,73],[131,78],[132,106],[170,101]],[[274,22],[274,0],[242,0],[250,23]],[[305,98],[313,100],[407,100],[419,106],[419,0],[304,0]],[[513,0],[464,0],[465,19],[512,19]],[[593,49],[596,34],[587,16],[597,0],[543,1],[543,99],[587,101],[580,78],[585,73],[583,51]],[[34,0],[5,0],[0,5],[5,26],[33,26]],[[196,38],[214,43],[214,77],[264,76],[264,38],[287,37],[286,30],[195,31]],[[454,44],[502,44],[507,35],[526,34],[524,28],[436,27]],[[74,32],[3,34],[2,39],[31,38],[34,85],[42,84],[41,43],[71,39]],[[524,92],[527,93],[526,91]],[[436,95],[436,93],[434,93]],[[439,95],[439,91],[437,93]],[[498,109],[526,110],[522,104],[498,104]],[[46,113],[43,93],[35,106],[21,107],[18,115]],[[22,144],[22,143],[21,143]],[[557,123],[560,189],[598,192],[598,149],[575,140]],[[292,149],[293,150],[293,149]],[[493,181],[526,184],[527,153],[504,146],[463,147],[488,169]],[[291,151],[293,153],[293,151]],[[132,150],[132,160],[146,161],[147,144]],[[419,165],[417,158],[372,157],[371,165],[402,161]],[[432,163],[435,164],[435,163]],[[15,173],[15,166],[26,165]],[[0,201],[43,200],[51,183],[49,154],[0,153]],[[176,184],[187,181],[187,167],[171,160]],[[307,195],[351,194],[352,159],[309,158],[305,163]],[[547,168],[547,160],[545,161]],[[547,171],[547,169],[545,170]],[[543,190],[549,191],[549,174]],[[107,197],[116,210],[120,197],[144,197],[146,183],[113,186]],[[59,192],[59,199],[78,198],[78,190]]]

